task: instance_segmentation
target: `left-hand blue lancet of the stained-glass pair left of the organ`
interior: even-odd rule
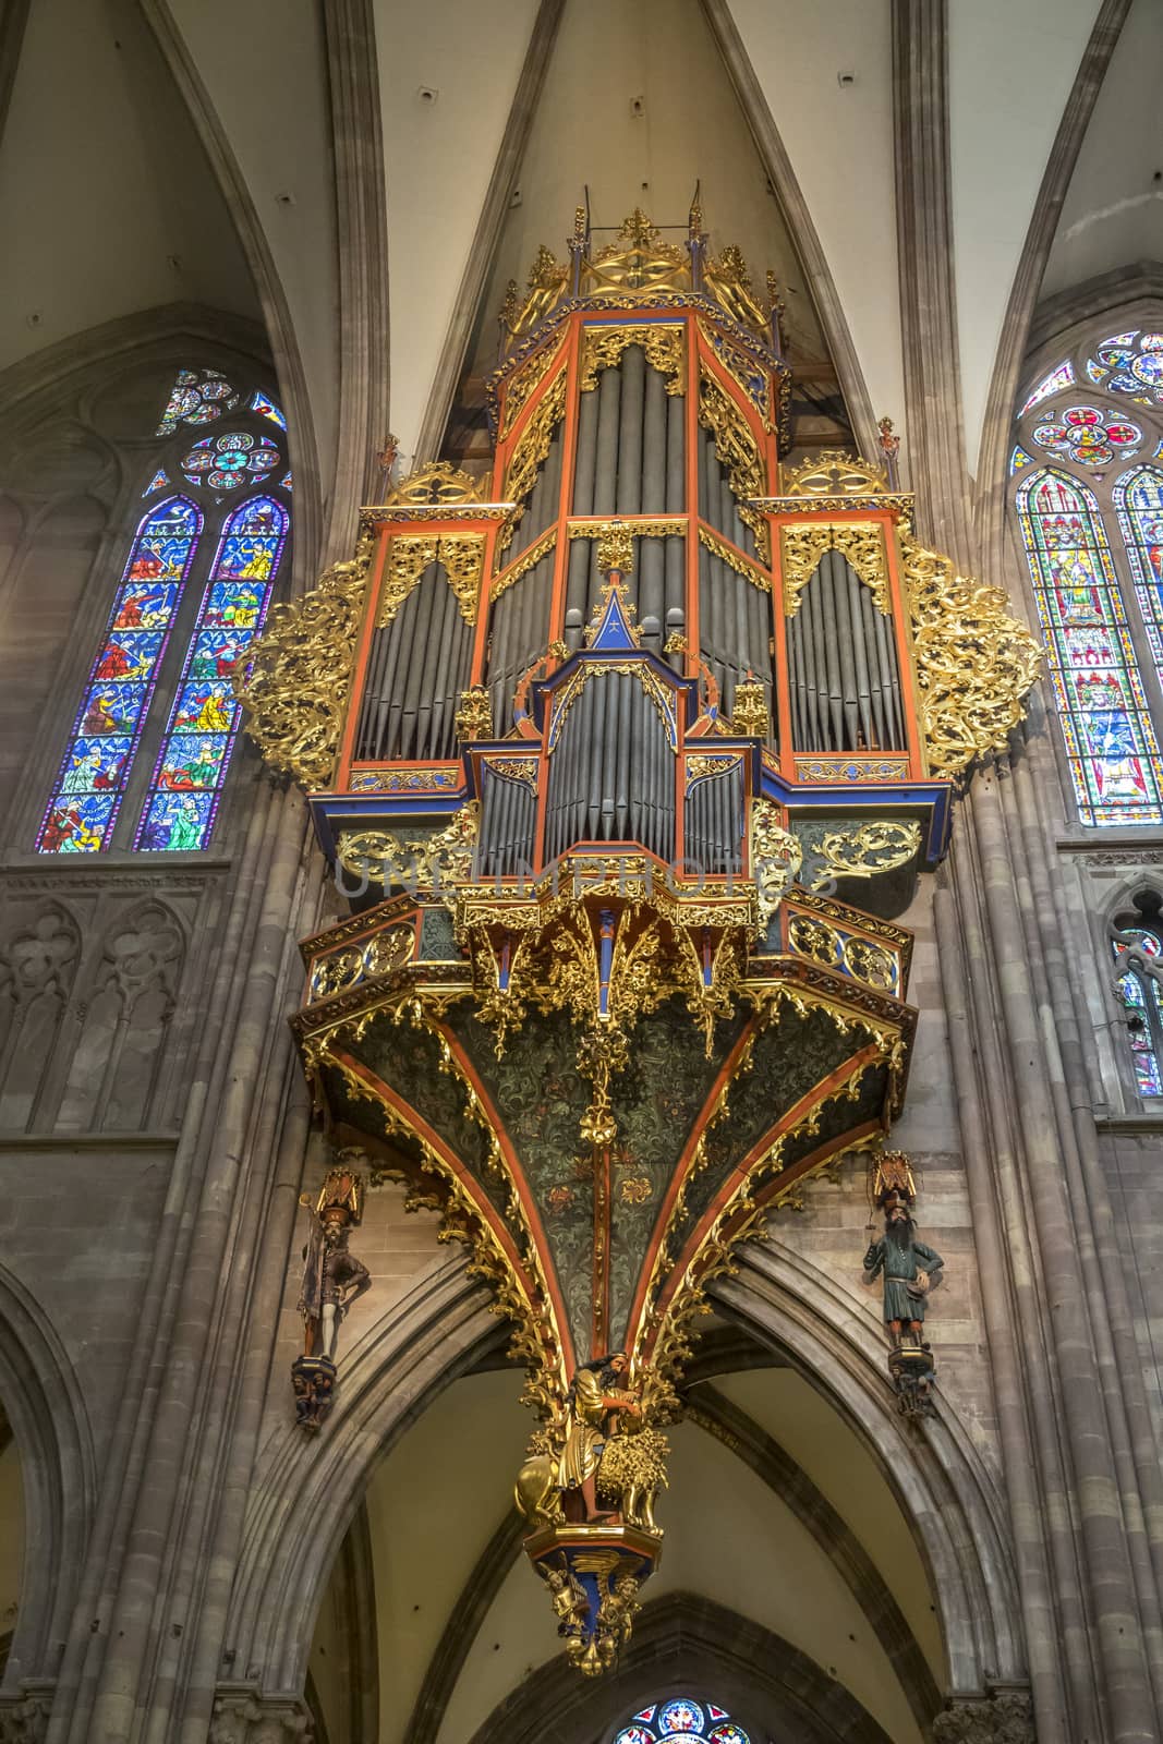
[[[185,497],[159,502],[138,527],[37,835],[40,853],[92,855],[108,842],[201,530]]]

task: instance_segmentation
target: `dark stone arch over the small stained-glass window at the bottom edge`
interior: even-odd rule
[[[635,1709],[663,1693],[706,1692],[753,1739],[804,1744],[889,1744],[842,1683],[790,1641],[694,1592],[643,1604],[612,1674],[581,1679],[565,1653],[525,1678],[474,1732],[471,1744],[605,1744]]]

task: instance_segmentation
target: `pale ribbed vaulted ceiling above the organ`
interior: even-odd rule
[[[1158,0],[949,5],[971,469],[1064,141],[1041,295],[1163,253],[1161,63]],[[439,448],[499,288],[537,242],[561,251],[586,183],[595,223],[633,204],[684,223],[701,178],[715,244],[785,286],[804,439],[854,412],[840,326],[865,406],[900,420],[893,66],[891,0],[17,0],[0,33],[0,370],[167,302],[249,316],[326,504],[359,488],[345,439],[368,478],[389,420],[406,455]]]

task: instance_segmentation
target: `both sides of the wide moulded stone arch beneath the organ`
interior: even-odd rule
[[[949,1400],[936,1421],[910,1432],[884,1374],[875,1318],[778,1236],[745,1250],[739,1275],[713,1294],[720,1311],[826,1395],[875,1458],[929,1571],[947,1688],[976,1693],[990,1679],[1022,1678],[1003,1502]],[[502,1339],[483,1289],[448,1259],[345,1359],[323,1435],[312,1441],[289,1421],[279,1432],[251,1500],[227,1629],[235,1662],[267,1693],[303,1685],[323,1587],[380,1458]],[[868,1725],[842,1735],[881,1741]]]

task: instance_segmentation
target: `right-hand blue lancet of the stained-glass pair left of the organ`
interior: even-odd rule
[[[239,729],[232,678],[267,617],[288,520],[274,497],[251,497],[223,527],[134,848],[176,853],[209,839]]]

